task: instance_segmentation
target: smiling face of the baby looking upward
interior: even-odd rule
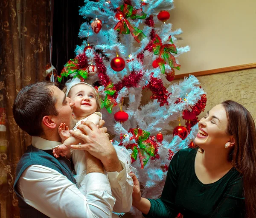
[[[75,102],[73,113],[76,119],[89,116],[97,109],[96,93],[89,85],[74,86],[68,96]]]

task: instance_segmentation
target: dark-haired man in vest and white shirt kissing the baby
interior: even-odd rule
[[[79,127],[87,134],[81,145],[87,147],[85,195],[74,184],[71,162],[65,157],[54,158],[52,149],[61,144],[58,126],[65,122],[71,129],[76,124],[73,106],[74,102],[53,83],[28,85],[17,94],[13,105],[15,121],[32,136],[32,145],[17,164],[14,184],[21,218],[107,218],[112,216],[115,204],[111,187],[112,192],[132,193],[132,180],[125,163],[118,160],[106,128],[101,131],[91,122]],[[119,206],[121,211],[117,208],[116,212],[130,210],[131,202],[125,200],[125,195]]]

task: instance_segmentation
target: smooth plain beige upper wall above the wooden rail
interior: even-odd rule
[[[179,57],[192,73],[256,62],[256,0],[175,0],[169,22],[191,51]]]

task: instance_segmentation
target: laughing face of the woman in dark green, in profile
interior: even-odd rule
[[[225,149],[232,136],[227,134],[227,115],[222,105],[216,105],[199,121],[195,144],[203,150],[211,148]]]

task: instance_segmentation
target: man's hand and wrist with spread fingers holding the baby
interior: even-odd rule
[[[102,161],[108,172],[122,170],[122,165],[116,155],[116,150],[105,133],[106,128],[101,130],[92,122],[86,121],[77,127],[85,134],[70,130],[71,135],[81,139],[84,144],[71,145],[73,149],[87,150],[91,155]]]

